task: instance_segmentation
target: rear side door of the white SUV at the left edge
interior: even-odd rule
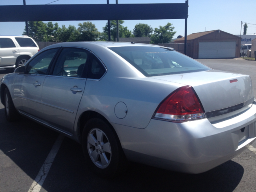
[[[0,65],[14,65],[19,49],[11,38],[0,38]]]

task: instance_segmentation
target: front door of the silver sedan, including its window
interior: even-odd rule
[[[20,112],[42,119],[42,86],[58,49],[38,54],[26,65],[26,74],[17,74],[14,81],[14,104]]]

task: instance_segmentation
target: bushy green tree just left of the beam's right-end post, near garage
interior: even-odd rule
[[[173,31],[174,27],[172,27],[171,23],[167,23],[166,26],[159,26],[158,28],[155,28],[154,34],[151,36],[151,42],[152,44],[158,44],[158,43],[169,43],[172,41],[172,38],[174,34],[176,34],[176,31]]]

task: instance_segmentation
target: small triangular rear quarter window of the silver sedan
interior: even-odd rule
[[[88,78],[100,79],[105,72],[106,68],[103,66],[100,60],[94,54],[91,54],[88,68]]]

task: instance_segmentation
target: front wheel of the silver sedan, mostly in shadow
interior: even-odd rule
[[[20,114],[17,112],[12,102],[12,97],[7,88],[4,90],[4,112],[6,120],[14,122],[20,119]]]

